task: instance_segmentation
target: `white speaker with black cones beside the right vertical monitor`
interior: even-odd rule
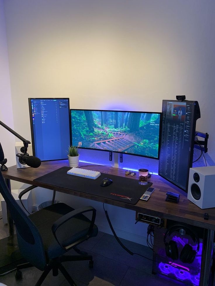
[[[188,200],[200,208],[215,207],[215,166],[190,168]]]

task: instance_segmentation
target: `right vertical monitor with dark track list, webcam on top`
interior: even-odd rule
[[[197,101],[163,100],[159,175],[184,191],[193,163]]]

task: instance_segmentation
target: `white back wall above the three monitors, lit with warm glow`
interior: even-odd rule
[[[13,111],[7,107],[23,137],[30,138],[28,97],[69,96],[71,108],[161,111],[162,99],[185,94],[199,102],[197,130],[209,133],[215,160],[215,1],[4,4]]]

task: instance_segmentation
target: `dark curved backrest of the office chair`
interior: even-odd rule
[[[2,194],[7,204],[7,208],[14,220],[19,250],[22,256],[33,266],[40,270],[44,270],[46,266],[46,257],[39,231],[35,224],[30,220],[30,218],[25,214],[25,212],[13,198],[1,170],[0,193]]]

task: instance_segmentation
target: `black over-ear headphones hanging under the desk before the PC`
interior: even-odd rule
[[[167,257],[170,257],[173,260],[178,259],[178,247],[177,243],[174,240],[171,240],[169,242],[166,241],[167,236],[170,236],[173,232],[179,231],[180,233],[188,234],[192,239],[193,242],[197,244],[196,250],[193,250],[193,247],[190,244],[185,244],[183,249],[181,250],[181,254],[179,256],[179,259],[183,263],[193,263],[195,256],[197,252],[199,251],[199,237],[193,230],[188,228],[187,226],[183,224],[175,224],[169,229],[167,229],[165,235],[164,235],[164,244],[165,244],[165,252]]]

